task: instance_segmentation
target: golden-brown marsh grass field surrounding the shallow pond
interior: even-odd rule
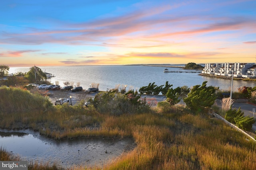
[[[17,90],[17,89],[13,89]],[[208,113],[193,114],[184,107],[165,105],[145,113],[112,115],[94,107],[48,105],[37,94],[0,88],[1,128],[32,128],[54,139],[74,137],[131,137],[136,147],[102,167],[106,170],[255,170],[256,143]],[[8,98],[6,95],[9,93]],[[24,94],[22,94],[24,93]],[[22,97],[23,96],[23,97]],[[18,98],[19,100],[16,100]],[[26,98],[26,100],[25,100]],[[26,102],[40,105],[30,107]],[[12,101],[23,101],[8,111]],[[25,102],[24,102],[25,101]],[[0,160],[17,159],[0,149]],[[61,169],[30,164],[29,169]]]

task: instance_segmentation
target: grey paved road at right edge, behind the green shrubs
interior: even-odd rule
[[[249,115],[250,117],[256,118],[256,113],[253,113],[253,109],[256,109],[255,105],[244,102],[234,102],[232,105],[232,109],[238,109],[239,107],[244,112],[244,116]],[[256,131],[256,123],[252,125],[252,129]]]

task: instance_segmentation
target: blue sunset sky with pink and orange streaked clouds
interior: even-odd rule
[[[1,0],[0,64],[256,62],[256,0]]]

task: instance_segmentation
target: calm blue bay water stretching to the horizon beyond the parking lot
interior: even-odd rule
[[[80,83],[83,89],[90,87],[92,83],[99,83],[99,90],[106,91],[115,88],[120,84],[127,85],[126,90],[139,90],[142,86],[148,86],[155,82],[156,85],[164,85],[166,81],[173,84],[173,88],[178,86],[192,87],[207,81],[208,86],[220,87],[222,90],[229,90],[231,80],[218,78],[209,78],[199,76],[198,73],[164,73],[165,67],[154,66],[55,66],[40,67],[43,71],[53,74],[55,77],[48,80],[55,84],[59,82],[74,82],[74,85]],[[29,67],[13,67],[9,73],[28,72]],[[169,71],[183,70],[182,68],[168,68]],[[187,70],[190,71],[190,70]],[[31,82],[32,83],[32,82]],[[233,81],[233,90],[241,86],[254,87],[256,82],[245,82],[241,80]]]

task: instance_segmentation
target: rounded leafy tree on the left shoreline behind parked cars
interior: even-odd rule
[[[36,76],[35,76],[36,73]],[[24,76],[30,83],[39,83],[46,80],[46,74],[37,66],[33,66]]]

